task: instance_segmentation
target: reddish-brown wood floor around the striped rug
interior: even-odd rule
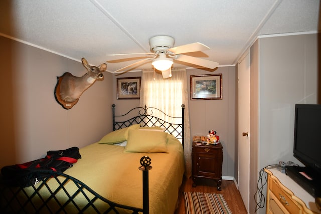
[[[216,189],[216,182],[213,180],[204,179],[199,182],[199,185],[197,185],[195,188],[192,187],[192,183],[192,178],[183,179],[183,184],[181,186],[179,194],[179,207],[175,211],[175,214],[185,214],[183,192],[206,192],[223,194],[223,197],[232,213],[247,213],[240,192],[236,188],[234,181],[222,180],[222,191],[218,191]]]

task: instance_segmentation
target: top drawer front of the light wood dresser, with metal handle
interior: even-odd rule
[[[290,195],[283,191],[280,186],[272,179],[269,180],[269,188],[275,195],[280,204],[288,210],[290,213],[300,213],[301,207],[299,207],[290,197]]]

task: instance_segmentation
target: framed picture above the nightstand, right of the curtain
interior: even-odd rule
[[[191,75],[191,100],[221,100],[222,74]]]

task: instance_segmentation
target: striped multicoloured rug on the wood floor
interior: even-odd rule
[[[184,192],[187,214],[232,214],[222,194]]]

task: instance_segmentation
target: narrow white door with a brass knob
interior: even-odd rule
[[[239,61],[238,185],[246,210],[250,199],[250,53]]]

